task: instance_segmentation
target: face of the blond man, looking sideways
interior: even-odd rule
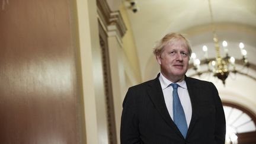
[[[179,42],[167,44],[162,54],[157,56],[162,74],[172,82],[178,82],[184,78],[189,59],[187,47]]]

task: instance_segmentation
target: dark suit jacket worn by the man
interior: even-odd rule
[[[128,89],[121,116],[121,144],[225,143],[225,114],[212,82],[185,77],[192,117],[184,139],[169,116],[158,77]]]

